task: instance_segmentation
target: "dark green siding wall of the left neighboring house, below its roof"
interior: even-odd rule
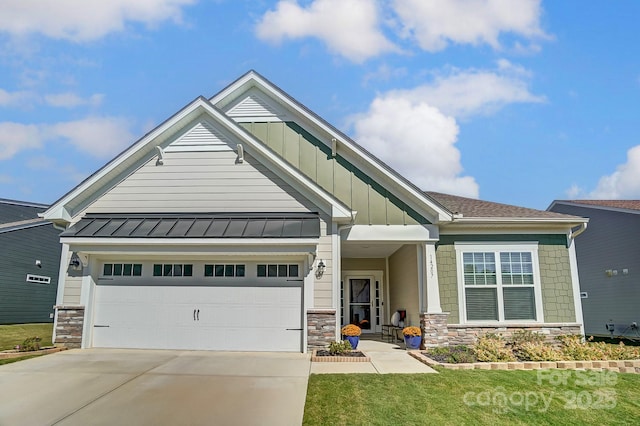
[[[50,314],[56,302],[62,250],[59,234],[51,224],[0,234],[0,324],[53,321]],[[27,274],[51,281],[27,282]]]

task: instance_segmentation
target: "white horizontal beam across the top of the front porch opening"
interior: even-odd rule
[[[438,241],[435,225],[354,225],[343,232],[344,241],[425,242]]]

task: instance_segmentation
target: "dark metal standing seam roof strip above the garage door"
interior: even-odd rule
[[[63,232],[74,238],[318,238],[315,213],[93,214]]]

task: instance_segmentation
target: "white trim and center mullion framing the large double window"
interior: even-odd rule
[[[538,324],[544,322],[544,311],[542,305],[542,285],[540,282],[540,262],[538,260],[538,243],[536,242],[457,242],[454,244],[456,249],[456,272],[458,277],[458,307],[459,320],[461,324],[473,325],[496,325],[496,324]],[[465,285],[464,285],[464,267],[463,253],[493,252],[496,253],[496,262],[499,261],[500,252],[530,252],[533,263],[533,291],[536,303],[536,319],[535,320],[505,320],[504,319],[504,302],[502,291],[497,292],[498,296],[498,321],[488,320],[467,320],[467,306],[465,303]],[[499,275],[499,271],[496,271]],[[499,281],[501,283],[501,279]],[[502,285],[498,285],[498,289],[502,289]]]

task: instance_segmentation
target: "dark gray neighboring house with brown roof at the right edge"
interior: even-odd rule
[[[640,338],[640,200],[556,200],[548,210],[589,218],[576,243],[586,335]]]

